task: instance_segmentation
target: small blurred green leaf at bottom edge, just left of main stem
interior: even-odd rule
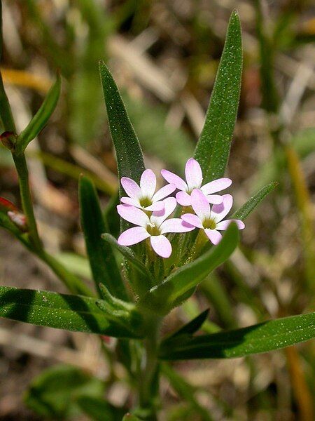
[[[124,409],[113,406],[97,396],[78,396],[76,403],[94,421],[118,421],[125,413]]]

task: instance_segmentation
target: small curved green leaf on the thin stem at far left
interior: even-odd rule
[[[38,133],[43,130],[46,123],[50,119],[50,116],[55,111],[60,91],[61,77],[59,74],[57,74],[57,79],[50,88],[50,91],[48,92],[40,109],[38,109],[38,112],[36,112],[31,121],[29,121],[27,127],[20,133],[20,135],[18,135],[18,140],[15,145],[15,154],[22,154],[29,142],[36,138]]]

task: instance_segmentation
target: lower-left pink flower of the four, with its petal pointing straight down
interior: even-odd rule
[[[176,208],[176,199],[168,197],[164,201],[164,210],[155,211],[151,217],[130,205],[118,205],[119,215],[137,227],[127,229],[118,238],[120,246],[132,246],[150,237],[151,246],[161,258],[169,258],[172,246],[164,234],[167,232],[188,232],[195,229],[180,218],[167,219]]]

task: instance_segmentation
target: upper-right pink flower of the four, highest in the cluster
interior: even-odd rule
[[[202,169],[198,161],[193,158],[188,159],[186,163],[186,181],[171,173],[171,171],[162,170],[161,174],[167,182],[176,185],[177,189],[181,190],[181,192],[176,194],[176,200],[182,206],[191,205],[190,195],[193,189],[200,189],[207,197],[209,203],[222,203],[222,196],[213,193],[220,192],[232,184],[230,178],[218,178],[218,180],[207,182],[207,184],[202,186]]]

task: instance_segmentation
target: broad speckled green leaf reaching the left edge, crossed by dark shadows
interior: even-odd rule
[[[0,316],[38,326],[98,333],[116,338],[141,338],[141,319],[136,312],[104,314],[103,300],[48,291],[0,287]]]

